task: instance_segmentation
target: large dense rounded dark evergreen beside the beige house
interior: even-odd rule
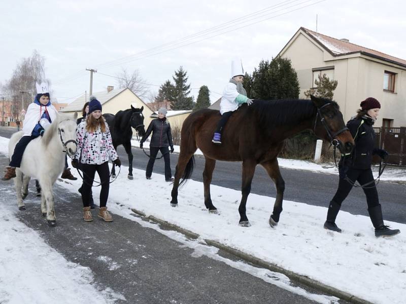
[[[252,73],[251,98],[299,98],[299,82],[291,61],[281,57],[261,60]]]

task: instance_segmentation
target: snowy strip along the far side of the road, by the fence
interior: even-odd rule
[[[133,147],[140,147],[140,143],[137,140],[131,140]],[[144,142],[144,149],[149,149],[149,141]],[[179,146],[174,146],[175,152],[179,153]],[[148,152],[147,152],[148,153]],[[200,149],[196,150],[195,155],[203,155]],[[159,154],[158,154],[159,156]],[[311,161],[300,161],[291,159],[278,158],[280,167],[297,169],[297,170],[309,170],[313,172],[339,174],[339,170],[333,163],[328,164],[316,164]],[[379,165],[373,166],[374,177],[378,177]],[[406,169],[404,167],[387,167],[382,174],[381,180],[394,181],[394,182],[406,182]]]

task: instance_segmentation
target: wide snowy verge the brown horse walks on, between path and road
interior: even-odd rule
[[[7,147],[7,141],[0,138],[0,146]],[[402,233],[392,239],[377,239],[368,217],[341,211],[337,223],[343,233],[338,234],[323,229],[326,208],[284,201],[280,223],[271,229],[268,218],[275,198],[251,194],[247,216],[252,226],[240,227],[239,191],[212,185],[212,200],[220,214],[209,214],[204,206],[202,183],[190,180],[180,189],[179,207],[173,208],[172,185],[162,175],[153,174],[153,179],[146,180],[145,171],[134,169],[134,180],[128,180],[127,169],[121,170],[110,186],[108,207],[113,213],[131,218],[128,208],[136,208],[199,234],[201,242],[218,241],[368,301],[406,302],[405,224],[386,221]],[[81,182],[58,184],[78,195]],[[93,195],[97,202],[99,188],[93,190]],[[16,250],[14,254],[19,253]]]

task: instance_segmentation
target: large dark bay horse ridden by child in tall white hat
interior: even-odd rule
[[[243,105],[228,120],[221,137],[222,144],[215,145],[212,137],[219,120],[219,111],[202,109],[191,113],[183,123],[171,205],[175,207],[178,204],[178,187],[190,178],[194,167],[193,154],[199,148],[206,158],[203,182],[205,205],[210,212],[217,212],[210,197],[216,160],[243,162],[242,199],[239,207],[242,226],[250,226],[246,203],[258,164],[265,168],[276,184],[277,196],[269,224],[273,227],[279,222],[285,181],[279,171],[277,156],[284,139],[310,129],[337,146],[342,153],[349,153],[354,145],[339,105],[314,96],[311,96],[311,100],[255,100],[250,106]]]

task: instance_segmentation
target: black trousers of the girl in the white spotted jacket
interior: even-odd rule
[[[105,162],[101,165],[81,164],[80,167],[83,172],[83,184],[81,191],[83,207],[90,206],[90,196],[92,194],[91,189],[94,180],[94,174],[96,173],[96,171],[98,176],[100,177],[101,182],[100,207],[106,207],[110,189],[109,162]]]

